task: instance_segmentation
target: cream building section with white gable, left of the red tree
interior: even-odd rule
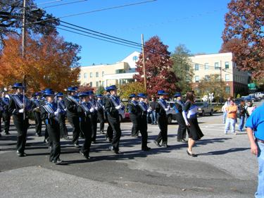
[[[133,75],[136,73],[136,62],[139,52],[134,51],[122,61],[96,66],[80,67],[80,85],[91,85],[91,87],[107,87],[110,85],[122,85],[134,82]]]

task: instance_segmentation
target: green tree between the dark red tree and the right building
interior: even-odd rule
[[[183,93],[191,90],[191,80],[194,77],[194,69],[189,63],[191,61],[189,56],[191,56],[190,51],[184,44],[177,46],[174,54],[172,54],[172,69],[179,78],[176,85],[182,89]]]

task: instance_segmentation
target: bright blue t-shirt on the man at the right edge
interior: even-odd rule
[[[246,127],[254,130],[254,135],[259,140],[264,140],[264,104],[258,107],[248,120],[246,120]]]

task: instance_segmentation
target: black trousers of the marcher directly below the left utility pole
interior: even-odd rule
[[[15,128],[18,131],[18,141],[16,143],[16,149],[20,153],[25,151],[25,143],[27,140],[27,128],[29,127],[28,118],[23,118],[23,113],[21,115],[13,115],[13,121]]]

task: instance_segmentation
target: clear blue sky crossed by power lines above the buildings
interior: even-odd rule
[[[49,0],[37,0],[39,8],[56,17],[75,13],[95,11],[101,8],[134,4],[148,0],[87,0],[76,4],[54,6],[77,0],[62,0],[43,4]],[[173,52],[179,44],[184,44],[191,54],[218,53],[225,28],[225,13],[230,0],[157,0],[122,8],[87,13],[61,20],[86,27],[107,35],[141,43],[141,35],[146,42],[153,36],[160,37],[168,50]],[[46,8],[45,8],[46,7]],[[93,63],[111,64],[122,61],[133,51],[132,47],[104,42],[98,39],[58,30],[65,41],[79,44],[82,49],[80,66]]]

